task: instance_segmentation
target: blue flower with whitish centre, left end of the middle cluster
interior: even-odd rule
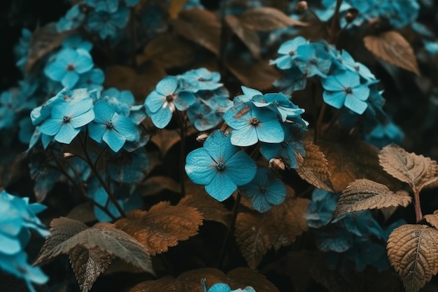
[[[190,91],[181,90],[179,81],[174,76],[167,76],[157,83],[155,90],[150,92],[144,102],[146,113],[160,129],[169,124],[175,109],[185,111],[193,103],[195,95]]]

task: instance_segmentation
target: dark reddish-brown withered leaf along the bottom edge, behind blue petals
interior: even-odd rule
[[[224,274],[222,271],[206,267],[183,272],[178,277],[162,277],[156,281],[144,281],[129,290],[129,292],[202,292],[201,280],[206,279],[206,286],[211,287],[216,283],[226,283],[232,289],[252,286],[257,292],[278,292],[274,284],[256,270],[238,267]]]

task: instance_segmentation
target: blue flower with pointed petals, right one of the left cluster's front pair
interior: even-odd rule
[[[94,105],[94,114],[93,122],[88,125],[90,138],[94,141],[104,141],[114,152],[118,152],[125,141],[139,139],[140,133],[134,123],[126,116],[116,113],[107,102],[97,102]]]

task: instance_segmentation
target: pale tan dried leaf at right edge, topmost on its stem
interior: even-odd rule
[[[438,165],[435,160],[423,155],[408,153],[395,144],[383,147],[379,154],[380,164],[388,174],[409,183],[414,192],[438,179]]]

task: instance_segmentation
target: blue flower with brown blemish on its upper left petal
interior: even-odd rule
[[[233,106],[225,113],[224,120],[233,128],[233,145],[251,146],[257,141],[280,143],[284,140],[277,114],[269,109],[257,108],[252,102]]]

